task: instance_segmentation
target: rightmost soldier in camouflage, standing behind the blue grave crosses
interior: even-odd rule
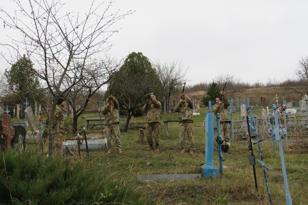
[[[216,98],[216,105],[213,106],[215,115],[220,115],[220,134],[224,137],[221,148],[224,152],[229,152],[230,148],[230,115],[228,113],[229,102],[224,91],[220,92],[222,100]]]

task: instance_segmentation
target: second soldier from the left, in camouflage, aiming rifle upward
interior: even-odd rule
[[[122,144],[120,138],[119,127],[119,102],[111,94],[107,98],[107,104],[102,109],[102,113],[105,116],[105,131],[107,137],[107,154],[112,152],[112,134],[115,139],[115,146],[118,149],[118,153],[122,152]]]

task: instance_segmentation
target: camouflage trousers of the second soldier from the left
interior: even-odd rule
[[[122,149],[119,123],[105,125],[105,131],[106,131],[106,137],[107,137],[107,150],[112,149],[112,135],[115,140],[115,147],[117,147],[117,149]]]

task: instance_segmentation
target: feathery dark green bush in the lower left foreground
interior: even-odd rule
[[[27,150],[2,152],[0,204],[144,204],[122,180],[99,167]]]

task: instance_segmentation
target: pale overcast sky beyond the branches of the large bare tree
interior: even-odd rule
[[[83,8],[84,1],[73,2]],[[189,67],[188,85],[226,73],[252,84],[283,81],[295,78],[299,60],[308,57],[308,1],[115,0],[113,6],[136,12],[119,22],[110,55],[177,60]]]

